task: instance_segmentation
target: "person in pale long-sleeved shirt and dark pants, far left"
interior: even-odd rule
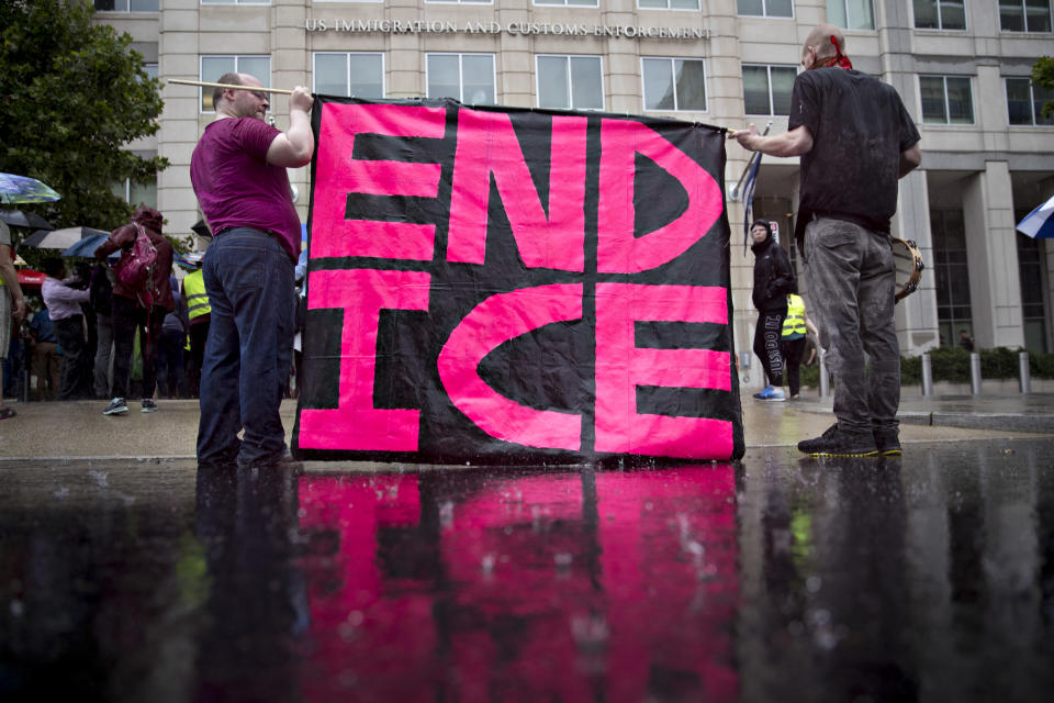
[[[55,337],[63,347],[63,372],[58,397],[61,400],[75,400],[78,398],[88,342],[85,335],[85,315],[80,304],[88,302],[90,293],[68,286],[76,281],[72,278],[66,278],[66,266],[63,259],[46,259],[44,274],[47,278],[41,286],[41,294],[44,297],[44,305],[52,320]]]

